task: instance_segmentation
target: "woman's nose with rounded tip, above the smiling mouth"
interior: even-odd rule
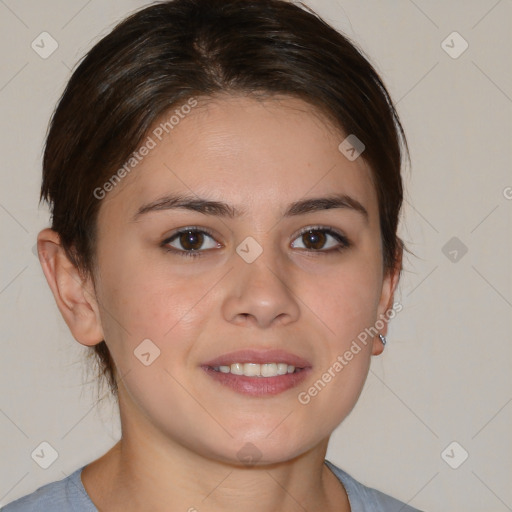
[[[291,288],[291,269],[269,248],[252,263],[234,255],[235,268],[222,312],[226,321],[260,328],[287,325],[300,316],[298,298]]]

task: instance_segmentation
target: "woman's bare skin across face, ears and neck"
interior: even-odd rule
[[[210,99],[102,200],[92,276],[81,276],[55,232],[39,234],[43,270],[73,336],[87,346],[105,339],[122,376],[122,439],[82,473],[99,510],[350,510],[323,461],[371,356],[382,352],[379,338],[307,405],[297,396],[391,308],[399,271],[383,271],[370,169],[338,150],[344,138],[298,99]],[[245,214],[175,209],[132,220],[171,192]],[[332,193],[357,199],[368,219],[349,208],[283,217],[294,201]],[[318,224],[351,245],[328,252],[339,242],[328,237],[322,249],[300,236]],[[162,242],[189,226],[213,233],[202,256],[166,252]],[[250,264],[235,250],[247,236],[263,249]],[[179,240],[171,248],[185,250]],[[133,354],[144,339],[161,351],[149,366]],[[250,397],[200,367],[248,347],[287,350],[312,370],[296,388]],[[261,456],[254,466],[237,455],[246,443]]]

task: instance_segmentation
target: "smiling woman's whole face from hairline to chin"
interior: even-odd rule
[[[167,129],[150,132],[98,218],[96,297],[124,435],[289,460],[348,415],[381,350],[368,338],[344,357],[396,285],[370,170],[297,99],[218,98]]]

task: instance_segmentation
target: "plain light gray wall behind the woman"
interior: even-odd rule
[[[49,219],[38,194],[51,112],[77,60],[147,3],[0,0],[0,506],[119,438],[33,250]],[[512,510],[512,2],[308,5],[381,73],[412,156],[403,311],[328,458],[430,512]],[[42,32],[58,44],[46,58],[31,47]],[[48,469],[31,456],[41,442],[58,454]]]

